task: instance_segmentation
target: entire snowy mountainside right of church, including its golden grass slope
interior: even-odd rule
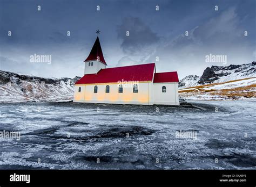
[[[212,66],[200,78],[186,76],[179,83],[179,95],[193,100],[256,99],[256,62]]]

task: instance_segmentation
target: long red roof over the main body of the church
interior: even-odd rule
[[[86,74],[76,84],[114,83],[118,81],[152,81],[154,63],[101,69],[97,74]]]

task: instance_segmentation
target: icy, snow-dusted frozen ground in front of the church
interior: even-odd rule
[[[256,169],[256,100],[190,103],[2,103],[0,169]]]

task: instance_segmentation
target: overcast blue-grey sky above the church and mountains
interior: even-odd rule
[[[0,69],[82,76],[99,29],[107,67],[156,62],[157,72],[200,76],[213,65],[255,61],[255,9],[255,0],[0,0]],[[30,62],[33,54],[51,55],[51,63]],[[227,63],[206,62],[209,54],[227,55]]]

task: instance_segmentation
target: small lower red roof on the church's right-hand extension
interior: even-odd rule
[[[162,82],[179,82],[177,71],[155,73],[153,83],[162,83]]]

